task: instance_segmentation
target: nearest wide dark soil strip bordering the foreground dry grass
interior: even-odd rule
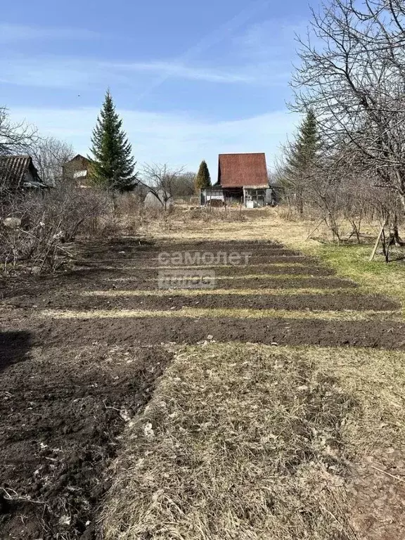
[[[33,323],[32,319],[30,321]],[[29,323],[26,325],[31,326]],[[311,319],[86,319],[38,321],[32,339],[41,345],[110,343],[160,345],[197,343],[212,336],[218,342],[240,341],[271,345],[322,345],[405,349],[405,324],[394,321],[319,321]],[[20,330],[26,330],[23,321]],[[79,372],[78,372],[79,373]]]

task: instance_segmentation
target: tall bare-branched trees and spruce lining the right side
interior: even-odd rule
[[[331,0],[312,11],[293,75],[304,120],[284,148],[278,182],[300,215],[319,214],[336,240],[380,221],[401,244],[405,213],[405,4]]]

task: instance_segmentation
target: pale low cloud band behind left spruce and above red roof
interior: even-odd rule
[[[226,121],[141,110],[119,113],[139,162],[167,162],[194,170],[205,159],[212,172],[219,153],[266,152],[271,165],[280,143],[293,134],[298,120],[285,110]],[[11,115],[13,120],[36,124],[41,133],[68,141],[86,154],[98,109],[20,109]]]

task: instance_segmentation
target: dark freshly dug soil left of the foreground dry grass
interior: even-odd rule
[[[88,338],[75,345],[91,345]],[[110,485],[105,470],[125,427],[120,410],[136,415],[170,360],[160,347],[118,354],[93,345],[77,356],[64,342],[0,373],[4,540],[96,538],[96,511]],[[8,356],[19,350],[15,336],[3,334],[0,344]]]

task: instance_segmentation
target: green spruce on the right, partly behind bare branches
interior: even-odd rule
[[[304,212],[304,193],[314,175],[320,139],[314,111],[309,109],[295,141],[290,145],[285,167],[285,188],[294,195],[297,211]]]

